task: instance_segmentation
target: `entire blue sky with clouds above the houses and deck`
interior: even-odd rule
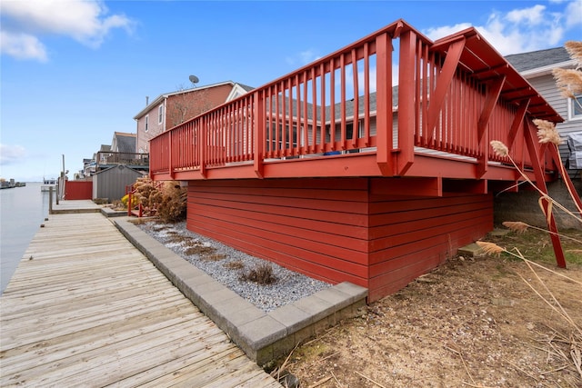
[[[265,85],[403,18],[431,39],[475,26],[502,55],[582,39],[575,1],[0,3],[0,177],[83,167],[158,95]]]

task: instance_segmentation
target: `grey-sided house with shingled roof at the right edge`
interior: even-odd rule
[[[557,88],[556,80],[552,75],[555,68],[573,69],[576,61],[570,58],[566,48],[557,47],[547,50],[533,51],[529,53],[507,55],[507,61],[543,95],[557,113],[564,117],[564,122],[556,125],[558,132],[564,139],[560,145],[560,157],[564,164],[567,162],[569,150],[567,147],[568,134],[582,133],[582,95],[577,96],[577,101],[561,95]],[[570,176],[580,177],[580,170],[570,169]]]

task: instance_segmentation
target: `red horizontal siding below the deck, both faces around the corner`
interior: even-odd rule
[[[369,187],[368,178],[193,181],[187,225],[317,279],[368,287],[370,302],[492,228],[490,195],[411,199]]]

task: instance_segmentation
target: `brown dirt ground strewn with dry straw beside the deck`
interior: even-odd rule
[[[507,254],[457,256],[296,348],[282,369],[302,388],[582,387],[582,333],[574,328],[582,327],[582,232],[567,235],[578,242],[564,243],[566,270],[546,234],[489,237],[557,274],[534,273]],[[544,297],[549,290],[574,325],[520,276]]]

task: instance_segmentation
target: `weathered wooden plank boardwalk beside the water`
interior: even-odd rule
[[[0,386],[280,387],[101,214],[54,214],[0,297]]]

